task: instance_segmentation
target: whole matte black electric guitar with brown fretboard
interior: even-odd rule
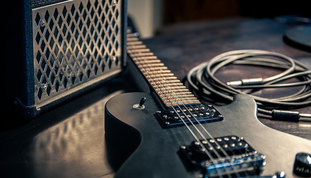
[[[131,33],[127,52],[152,92],[124,93],[106,103],[105,135],[129,155],[116,178],[298,178],[295,169],[306,173],[294,162],[298,153],[311,153],[311,141],[263,125],[250,96],[236,94],[226,106],[203,105]]]

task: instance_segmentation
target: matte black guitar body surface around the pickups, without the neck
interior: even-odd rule
[[[146,97],[145,108],[133,108],[142,97]],[[310,154],[310,140],[263,125],[256,117],[257,105],[248,95],[236,94],[231,104],[214,107],[224,119],[202,123],[199,129],[206,129],[213,137],[243,137],[252,148],[266,156],[260,176],[284,171],[289,178],[298,178],[293,174],[295,156],[299,152]],[[200,177],[200,171],[190,169],[178,153],[181,145],[194,141],[193,135],[186,126],[163,127],[156,116],[156,111],[162,109],[151,93],[124,93],[108,100],[105,106],[106,137],[129,152],[129,157],[117,170],[116,178]]]

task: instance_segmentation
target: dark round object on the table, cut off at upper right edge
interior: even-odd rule
[[[288,45],[311,51],[311,25],[290,27],[285,31],[283,39]]]

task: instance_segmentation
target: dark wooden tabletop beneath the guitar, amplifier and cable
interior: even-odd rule
[[[236,49],[275,51],[311,65],[310,52],[283,42],[289,26],[271,19],[226,19],[166,28],[143,42],[180,80],[200,63]],[[123,158],[122,153],[107,153],[111,148],[105,144],[104,107],[112,96],[146,90],[140,76],[128,75],[133,70],[129,66],[121,76],[30,122],[16,123],[6,115],[7,127],[0,134],[1,175],[112,178]],[[310,109],[300,111],[310,113]],[[311,122],[259,120],[275,130],[311,140]]]

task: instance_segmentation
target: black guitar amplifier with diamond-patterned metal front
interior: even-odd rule
[[[34,118],[123,71],[126,0],[8,3],[1,102],[7,111]]]

